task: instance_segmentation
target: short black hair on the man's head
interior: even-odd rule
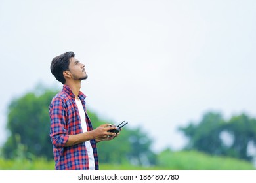
[[[65,84],[66,80],[63,76],[63,71],[69,71],[70,58],[75,57],[74,52],[66,52],[53,58],[51,63],[51,73],[56,80]]]

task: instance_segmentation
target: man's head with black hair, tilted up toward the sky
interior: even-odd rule
[[[65,84],[67,79],[80,81],[86,79],[87,74],[84,67],[85,65],[75,59],[74,52],[66,52],[54,57],[50,68],[56,80]]]

